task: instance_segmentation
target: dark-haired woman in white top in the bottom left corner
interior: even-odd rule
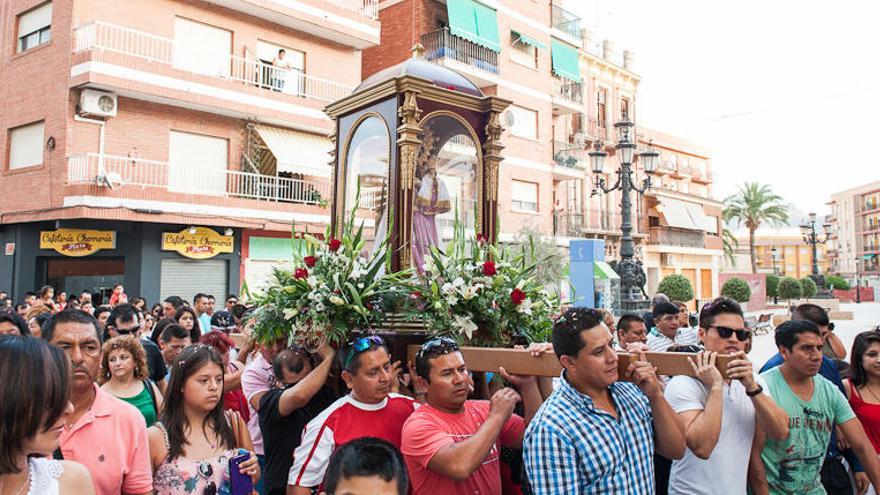
[[[81,464],[50,459],[73,412],[70,362],[42,339],[0,337],[0,493],[93,495]]]

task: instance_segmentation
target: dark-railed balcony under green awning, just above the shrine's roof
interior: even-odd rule
[[[424,33],[425,59],[469,76],[478,86],[498,82],[498,53],[449,32],[448,28]]]

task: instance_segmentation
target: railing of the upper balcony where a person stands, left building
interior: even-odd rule
[[[105,22],[92,22],[74,29],[74,53],[103,50],[137,57],[178,70],[236,81],[267,91],[300,98],[331,102],[351,94],[345,84],[308,76],[298,69],[273,66],[256,58],[235,55],[218,57],[198,45],[124,28]]]

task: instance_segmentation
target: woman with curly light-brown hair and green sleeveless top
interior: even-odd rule
[[[134,335],[120,335],[104,342],[101,350],[101,388],[141,412],[152,426],[162,412],[162,393],[149,378],[147,353]]]

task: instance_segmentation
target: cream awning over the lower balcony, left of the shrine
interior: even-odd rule
[[[275,155],[278,172],[330,177],[330,140],[280,127],[256,126],[260,139]]]

